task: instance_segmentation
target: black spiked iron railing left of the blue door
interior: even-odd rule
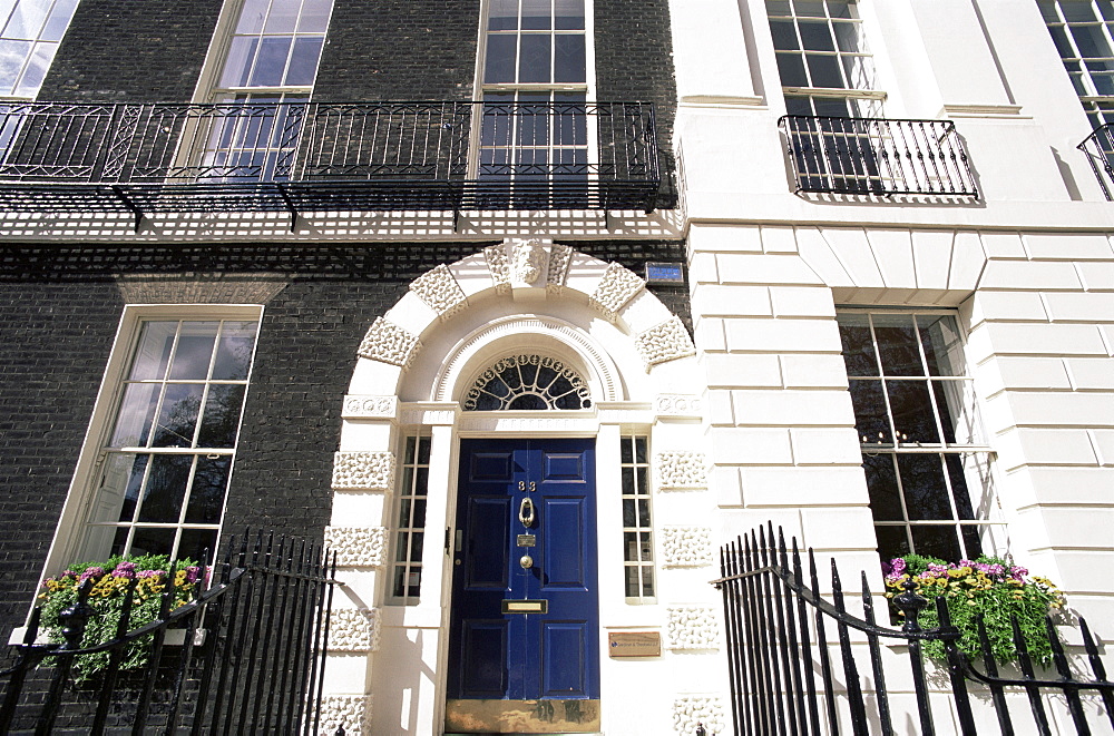
[[[126,602],[115,638],[97,646],[81,646],[98,615],[91,579],[59,614],[63,642],[35,642],[36,609],[14,666],[0,671],[0,734],[316,734],[334,558],[303,541],[261,534],[248,546],[245,538],[238,551],[229,547],[207,589],[198,586],[170,610],[178,567],[172,562],[163,576],[154,621],[129,630]],[[172,632],[183,634],[180,647],[168,647]],[[136,647],[147,664],[126,671]],[[98,652],[108,652],[107,666],[75,685],[79,658]]]

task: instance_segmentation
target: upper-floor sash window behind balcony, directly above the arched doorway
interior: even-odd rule
[[[483,27],[481,177],[586,177],[584,0],[491,0]]]

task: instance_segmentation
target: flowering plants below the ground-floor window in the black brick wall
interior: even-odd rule
[[[47,629],[50,641],[61,644],[59,614],[77,602],[78,587],[86,579],[92,580],[89,605],[96,614],[89,617],[81,647],[94,647],[116,638],[117,627],[124,615],[124,602],[128,588],[135,580],[135,599],[128,619],[128,630],[134,630],[158,618],[160,596],[166,586],[166,570],[169,560],[165,555],[141,557],[110,557],[105,562],[71,565],[63,573],[47,579],[39,593],[42,609],[41,626]],[[193,560],[179,560],[174,577],[174,599],[170,610],[188,602],[194,596],[201,578],[201,568]],[[128,646],[120,665],[123,670],[141,669],[150,659],[147,635]],[[74,661],[74,678],[84,683],[108,667],[110,652],[98,651],[81,655]]]

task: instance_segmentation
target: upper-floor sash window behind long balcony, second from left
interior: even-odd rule
[[[285,181],[321,61],[332,0],[246,0],[192,149],[206,178]]]

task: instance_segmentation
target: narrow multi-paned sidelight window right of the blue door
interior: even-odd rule
[[[623,567],[628,602],[654,602],[654,527],[649,508],[649,453],[643,435],[624,435]]]

